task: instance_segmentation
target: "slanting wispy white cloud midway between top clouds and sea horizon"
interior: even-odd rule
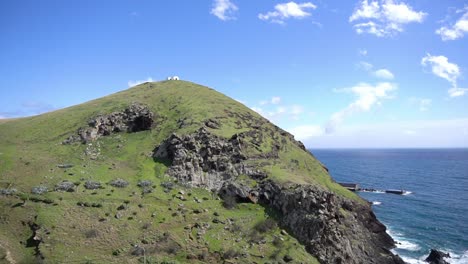
[[[336,127],[343,123],[344,119],[349,116],[370,111],[373,106],[381,104],[382,99],[391,98],[392,96],[390,93],[396,89],[396,84],[382,82],[375,86],[367,83],[360,83],[351,88],[338,90],[353,93],[357,99],[346,108],[332,115],[325,126],[325,132],[333,133]]]

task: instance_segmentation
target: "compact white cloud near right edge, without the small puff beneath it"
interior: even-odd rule
[[[430,66],[432,73],[449,81],[453,87],[457,87],[457,79],[460,77],[460,68],[457,64],[448,61],[445,56],[432,56],[427,54],[421,59],[423,66]]]

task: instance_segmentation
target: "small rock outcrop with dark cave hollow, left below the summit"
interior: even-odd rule
[[[88,143],[101,136],[117,132],[139,132],[150,130],[154,123],[151,110],[139,103],[133,103],[122,112],[100,115],[88,122],[88,127],[80,128],[77,135],[70,136],[63,144],[74,142]]]

